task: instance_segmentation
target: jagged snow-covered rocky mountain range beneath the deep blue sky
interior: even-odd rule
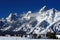
[[[0,19],[0,34],[60,34],[60,11],[54,8],[46,10],[45,7],[35,13],[10,13],[8,17]]]

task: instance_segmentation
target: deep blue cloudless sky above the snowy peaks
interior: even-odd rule
[[[37,12],[44,5],[47,9],[60,10],[60,0],[0,0],[0,18],[7,17],[9,13]]]

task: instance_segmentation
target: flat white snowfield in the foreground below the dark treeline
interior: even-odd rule
[[[60,40],[60,39],[28,39],[24,37],[2,37],[0,36],[0,40]]]

